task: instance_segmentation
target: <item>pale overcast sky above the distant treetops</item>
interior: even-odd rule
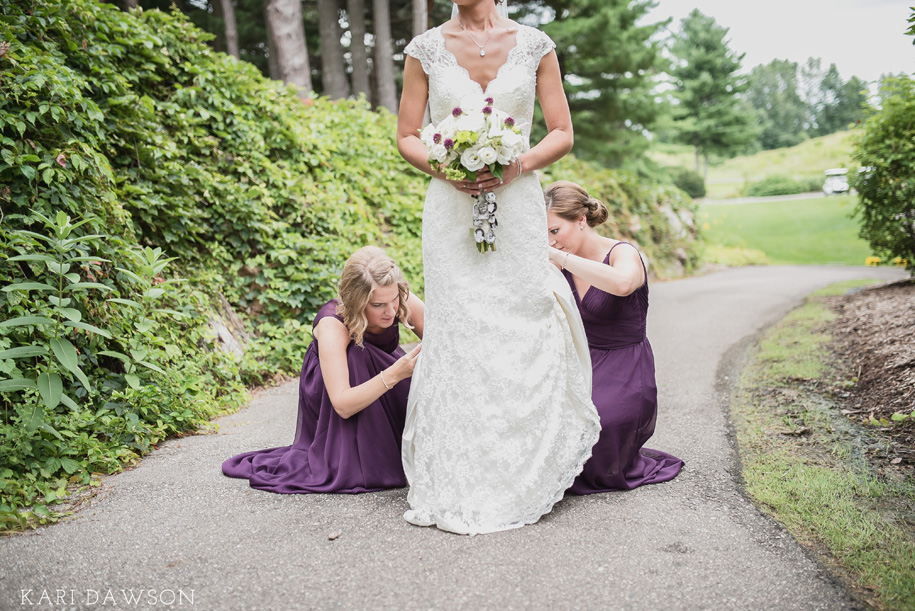
[[[671,29],[694,8],[729,28],[730,48],[746,53],[749,71],[773,59],[834,63],[843,79],[876,81],[888,72],[915,72],[913,37],[906,36],[915,0],[657,0],[649,22],[673,17]]]

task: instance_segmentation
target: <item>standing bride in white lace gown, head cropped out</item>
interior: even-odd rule
[[[600,421],[568,283],[549,262],[543,192],[533,170],[572,148],[554,44],[494,0],[454,0],[446,23],[406,48],[398,147],[432,176],[423,210],[425,329],[403,436],[411,509],[404,517],[461,534],[532,524],[562,498],[591,454]],[[500,11],[501,9],[501,11]],[[530,138],[535,98],[548,135],[497,178],[446,180],[419,139],[492,98]],[[498,198],[498,250],[481,254],[471,195]]]

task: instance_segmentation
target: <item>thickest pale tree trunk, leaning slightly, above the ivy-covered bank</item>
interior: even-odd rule
[[[276,63],[282,81],[295,85],[307,98],[311,87],[308,47],[302,24],[301,0],[266,0],[267,23],[273,35]]]

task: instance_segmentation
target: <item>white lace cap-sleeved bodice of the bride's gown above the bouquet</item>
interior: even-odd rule
[[[458,64],[454,54],[445,48],[442,26],[424,32],[407,45],[404,52],[418,59],[429,77],[429,111],[433,123],[447,117],[465,100],[491,97],[496,108],[515,119],[525,141],[529,141],[537,92],[537,68],[543,56],[556,45],[536,28],[520,24],[517,27],[515,46],[485,90],[470,78],[467,69]]]

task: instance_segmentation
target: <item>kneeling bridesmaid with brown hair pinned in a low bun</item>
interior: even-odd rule
[[[591,399],[601,421],[591,458],[569,491],[631,490],[673,479],[683,461],[642,448],[658,414],[654,356],[645,335],[645,264],[631,244],[594,231],[608,211],[581,186],[555,182],[544,197],[550,261],[562,269],[581,312],[594,372]]]

